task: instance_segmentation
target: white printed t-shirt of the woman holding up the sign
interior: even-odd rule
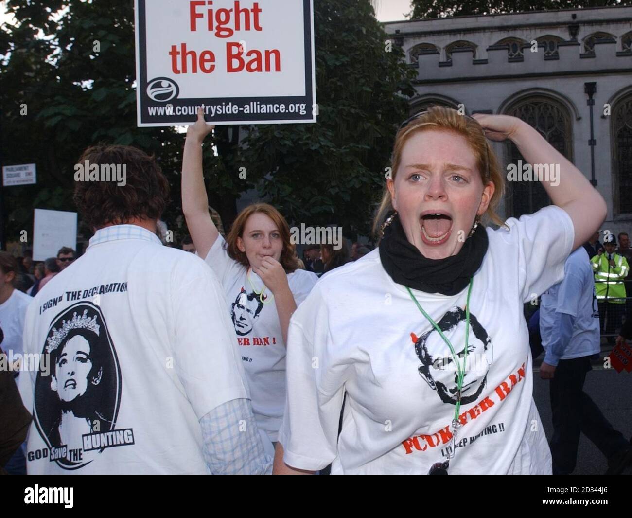
[[[279,314],[269,290],[265,289],[262,295],[258,295],[265,288],[261,278],[252,270],[248,273],[245,266],[231,259],[225,244],[224,238],[219,236],[205,261],[217,274],[228,299],[257,426],[267,433],[271,441],[276,441],[283,420],[286,393],[286,348]],[[301,269],[288,274],[289,290],[297,307],[317,280],[315,273]]]

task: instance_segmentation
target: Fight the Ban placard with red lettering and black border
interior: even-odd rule
[[[315,122],[312,0],[136,0],[138,126]]]

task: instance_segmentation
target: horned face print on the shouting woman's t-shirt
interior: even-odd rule
[[[454,348],[459,364],[463,368],[465,357],[466,314],[460,307],[454,307],[442,316],[437,326]],[[422,364],[418,367],[420,376],[428,383],[442,402],[456,405],[458,399],[459,374],[450,348],[441,335],[432,328],[417,338],[411,334],[415,343],[415,353]],[[461,386],[461,404],[477,400],[487,382],[487,372],[494,360],[492,339],[478,319],[470,313],[468,333],[468,351]]]

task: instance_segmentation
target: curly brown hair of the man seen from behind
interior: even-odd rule
[[[78,164],[85,161],[90,166],[126,166],[125,185],[117,185],[116,179],[75,182],[73,199],[90,228],[119,225],[134,218],[160,218],[169,200],[169,182],[154,156],[130,145],[95,145],[83,152]],[[84,174],[87,177],[89,171]]]

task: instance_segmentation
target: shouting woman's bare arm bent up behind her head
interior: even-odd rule
[[[540,133],[516,117],[508,115],[475,114],[485,135],[492,140],[511,139],[530,164],[559,164],[559,176],[542,180],[554,204],[561,207],[573,220],[575,241],[573,249],[588,241],[607,216],[602,195],[566,157],[547,142]]]

